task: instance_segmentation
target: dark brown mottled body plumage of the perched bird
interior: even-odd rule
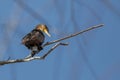
[[[44,42],[44,34],[39,30],[32,30],[22,39],[22,44],[24,44],[28,49],[37,46],[38,50],[41,49],[41,45]]]

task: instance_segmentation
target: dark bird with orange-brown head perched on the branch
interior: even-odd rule
[[[49,37],[51,36],[46,25],[38,24],[35,29],[23,37],[22,44],[32,51],[29,57],[33,57],[43,49],[42,44],[45,39],[43,33],[46,33]]]

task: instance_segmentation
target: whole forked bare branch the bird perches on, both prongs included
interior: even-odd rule
[[[43,56],[34,56],[34,57],[29,57],[29,58],[23,58],[23,59],[15,59],[15,60],[6,60],[6,61],[0,61],[0,65],[5,65],[5,64],[12,64],[12,63],[18,63],[18,62],[28,62],[28,61],[32,61],[32,60],[43,60],[45,59],[48,54],[50,54],[55,48],[57,48],[58,46],[60,45],[63,45],[63,46],[66,46],[68,45],[67,43],[58,43],[62,40],[65,40],[65,39],[68,39],[68,38],[72,38],[72,37],[75,37],[79,34],[82,34],[84,32],[87,32],[87,31],[90,31],[90,30],[93,30],[93,29],[96,29],[96,28],[99,28],[99,27],[102,27],[104,24],[99,24],[99,25],[96,25],[96,26],[92,26],[92,27],[89,27],[85,30],[82,30],[80,32],[77,32],[77,33],[74,33],[74,34],[71,34],[69,36],[66,36],[66,37],[63,37],[63,38],[60,38],[60,39],[57,39],[57,40],[54,40],[54,41],[51,41],[51,42],[47,42],[45,43],[42,47],[45,47],[45,46],[48,46],[48,45],[51,45],[51,44],[54,44],[56,43],[46,54],[44,54]]]

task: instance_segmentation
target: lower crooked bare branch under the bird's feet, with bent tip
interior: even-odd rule
[[[6,60],[6,61],[0,61],[0,65],[5,65],[5,64],[11,64],[11,63],[19,63],[19,62],[28,62],[32,60],[42,60],[45,59],[45,57],[50,54],[55,48],[58,46],[63,45],[66,46],[68,45],[67,43],[56,43],[46,54],[44,54],[42,57],[40,56],[34,56],[30,58],[23,58],[23,59],[16,59],[16,60]]]

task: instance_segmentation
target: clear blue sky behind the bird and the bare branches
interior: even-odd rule
[[[120,80],[119,0],[21,1],[0,1],[0,60],[27,56],[21,39],[39,23],[50,29],[46,42],[105,26],[62,41],[69,46],[58,47],[45,60],[0,66],[0,80]]]

